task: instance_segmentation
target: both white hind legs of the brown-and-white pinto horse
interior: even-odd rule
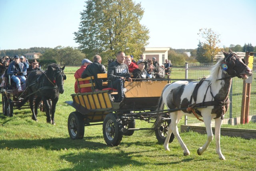
[[[171,113],[172,121],[169,125],[169,129],[167,132],[168,139],[166,137],[166,140],[164,141],[164,149],[170,151],[168,144],[169,144],[170,135],[171,135],[171,133],[173,133],[175,135],[175,137],[178,139],[178,142],[180,143],[180,146],[183,149],[183,154],[186,156],[186,155],[190,155],[190,151],[188,150],[187,146],[182,141],[179,131],[178,131],[178,127],[177,127],[182,115],[183,115],[183,113],[181,111],[176,111],[176,112]]]

